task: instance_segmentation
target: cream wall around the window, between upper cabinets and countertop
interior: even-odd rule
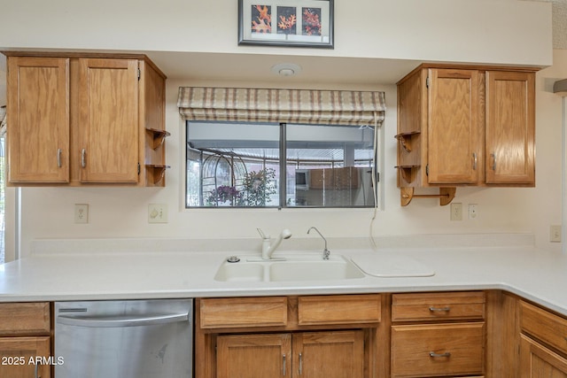
[[[454,202],[478,204],[476,220],[450,221],[448,207],[436,199],[414,199],[400,207],[395,184],[396,104],[395,86],[385,90],[384,211],[377,215],[374,235],[443,233],[534,233],[538,246],[560,251],[548,243],[548,228],[561,224],[562,99],[551,92],[556,79],[567,77],[567,50],[555,50],[555,65],[538,73],[537,80],[537,186],[535,189],[460,188]],[[164,189],[25,188],[22,189],[22,237],[24,254],[34,238],[69,237],[257,237],[256,228],[276,234],[291,228],[296,235],[310,226],[325,235],[369,235],[370,210],[273,209],[230,210],[183,208],[184,127],[175,107],[177,88],[194,82],[167,85],[167,173]],[[203,84],[198,82],[198,85]],[[363,89],[363,88],[361,88]],[[551,169],[550,169],[551,167]],[[74,224],[74,204],[89,204],[89,224]],[[148,224],[147,207],[167,204],[169,222]]]

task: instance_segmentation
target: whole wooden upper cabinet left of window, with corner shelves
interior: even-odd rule
[[[10,185],[165,186],[166,76],[147,57],[4,54]]]

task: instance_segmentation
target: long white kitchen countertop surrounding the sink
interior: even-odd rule
[[[369,252],[331,250],[347,258]],[[567,316],[567,257],[561,253],[524,245],[412,246],[379,252],[414,258],[435,274],[312,282],[218,282],[214,281],[218,267],[238,251],[65,251],[36,253],[0,265],[0,302],[502,289]],[[276,253],[285,255],[286,251]]]

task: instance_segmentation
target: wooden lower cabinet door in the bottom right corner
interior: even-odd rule
[[[566,378],[567,359],[522,335],[522,378]]]

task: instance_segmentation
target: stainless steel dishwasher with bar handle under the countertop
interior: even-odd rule
[[[57,378],[190,378],[192,299],[56,302]]]

